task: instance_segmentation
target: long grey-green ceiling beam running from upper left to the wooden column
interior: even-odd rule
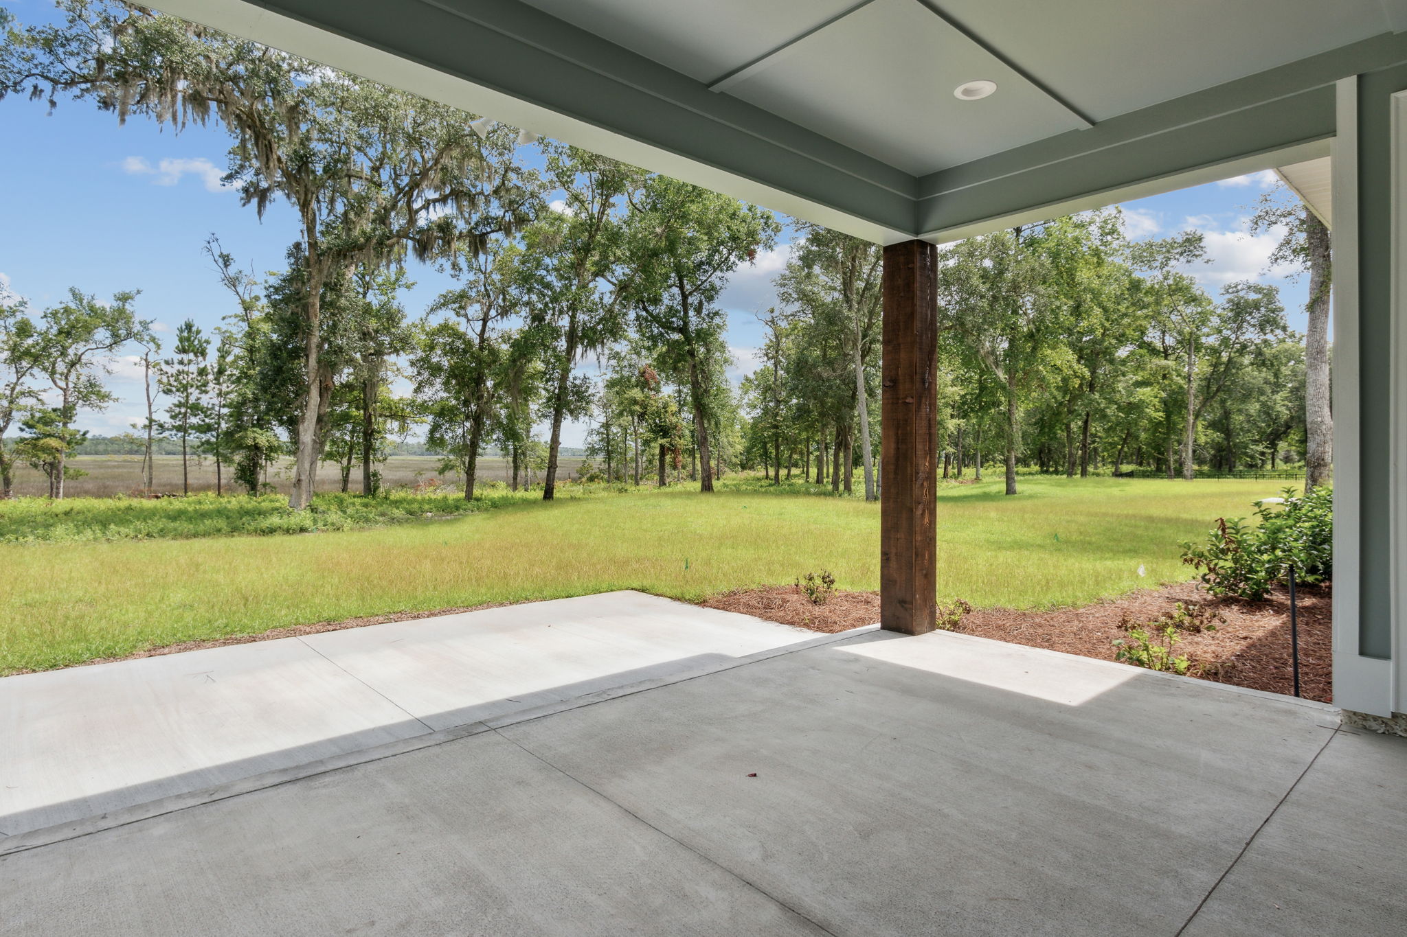
[[[915,177],[521,0],[162,0],[163,13],[857,237]]]

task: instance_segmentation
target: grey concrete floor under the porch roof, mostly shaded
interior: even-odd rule
[[[0,840],[0,900],[15,934],[1400,933],[1407,743],[1337,725],[865,632]]]

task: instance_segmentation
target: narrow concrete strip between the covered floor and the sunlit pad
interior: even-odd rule
[[[556,715],[559,712],[581,709],[585,707],[595,705],[598,702],[608,702],[609,700],[619,700],[622,697],[635,695],[637,693],[644,693],[647,690],[657,690],[660,687],[668,687],[677,683],[685,683],[689,680],[695,680],[698,677],[706,677],[713,673],[720,673],[723,670],[733,670],[734,667],[743,667],[750,663],[771,660],[774,657],[788,653],[795,653],[798,650],[808,650],[810,648],[820,648],[832,643],[839,643],[846,638],[875,632],[878,631],[878,628],[879,628],[878,625],[865,625],[862,628],[841,631],[833,635],[820,635],[815,639],[803,641],[795,645],[760,650],[756,655],[739,657],[736,660],[706,667],[695,673],[642,680],[633,684],[626,684],[623,687],[612,687],[609,690],[601,690],[594,694],[577,697],[575,700],[563,700],[561,702],[552,702],[543,707],[532,707],[528,709],[509,712],[491,719],[466,722],[464,725],[450,726],[446,729],[432,729],[422,735],[409,736],[407,739],[400,739],[397,742],[387,742],[386,745],[373,746],[370,749],[360,749],[357,752],[345,752],[340,754],[332,754],[325,759],[308,761],[307,764],[297,764],[286,768],[277,768],[274,771],[253,774],[246,778],[238,778],[215,787],[201,788],[198,791],[173,794],[166,798],[148,801],[146,804],[135,804],[132,806],[108,811],[89,818],[66,820],[63,823],[56,823],[55,826],[39,827],[37,830],[24,830],[6,837],[6,839],[18,839],[20,840],[18,843],[14,844],[0,843],[0,856],[17,856],[20,853],[42,848],[45,846],[66,843],[69,840],[82,839],[84,836],[91,836],[94,833],[103,833],[106,830],[113,830],[122,826],[131,826],[132,823],[141,823],[142,820],[155,819],[158,816],[179,813],[182,811],[189,811],[191,808],[203,806],[205,804],[217,804],[219,801],[228,801],[235,797],[242,797],[245,794],[253,794],[256,791],[281,787],[284,784],[291,784],[294,781],[318,777],[321,774],[329,774],[332,771],[340,771],[343,768],[355,768],[362,764],[383,761],[386,759],[391,759],[398,754],[409,754],[411,752],[419,752],[422,749],[431,749],[435,746],[446,745],[449,742],[457,742],[460,739],[467,739],[476,735],[481,735],[484,732],[521,725],[525,722],[533,722],[536,719],[543,719],[546,716]],[[394,701],[391,702],[393,705],[395,705]],[[397,705],[397,708],[400,707]],[[419,719],[415,721],[419,722],[421,725],[425,725]]]

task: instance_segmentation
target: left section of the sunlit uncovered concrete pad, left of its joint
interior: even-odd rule
[[[0,832],[424,732],[295,638],[6,677]]]

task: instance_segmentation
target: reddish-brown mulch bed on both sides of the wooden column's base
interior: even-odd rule
[[[1330,656],[1330,587],[1300,587],[1300,693],[1332,702]],[[1192,660],[1189,676],[1252,690],[1293,693],[1290,667],[1290,598],[1276,589],[1265,601],[1214,598],[1197,583],[1145,589],[1121,598],[1054,611],[982,608],[962,617],[954,631],[1083,657],[1114,659],[1114,639],[1134,627],[1171,612],[1178,603],[1196,603],[1225,621],[1216,631],[1183,634],[1173,655]],[[878,593],[837,591],[813,605],[796,586],[749,589],[715,596],[708,608],[737,611],[785,625],[834,634],[879,621]]]

